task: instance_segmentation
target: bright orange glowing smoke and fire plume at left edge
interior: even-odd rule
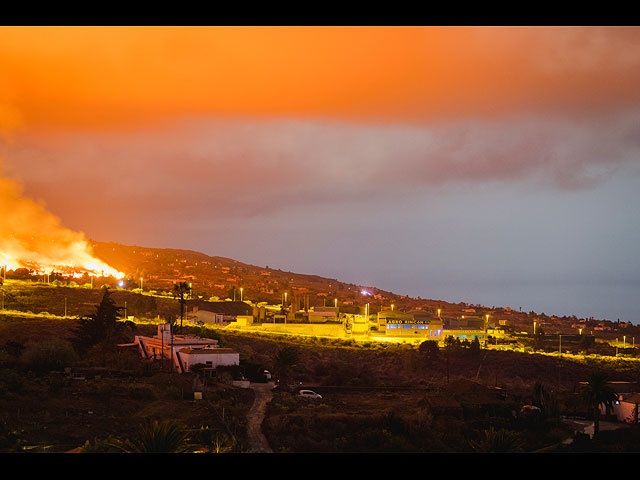
[[[24,197],[18,182],[6,178],[0,178],[0,268],[124,277],[92,255],[83,233],[63,227],[43,204]]]

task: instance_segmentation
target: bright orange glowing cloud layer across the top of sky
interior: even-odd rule
[[[431,119],[637,102],[639,40],[636,28],[5,27],[0,91],[29,125]]]

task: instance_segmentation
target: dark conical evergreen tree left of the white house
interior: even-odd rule
[[[111,298],[111,292],[105,288],[100,304],[95,313],[81,317],[74,330],[73,339],[76,347],[86,351],[94,345],[101,344],[107,349],[124,339],[127,330],[135,329],[135,323],[118,320],[121,307],[117,307]]]

